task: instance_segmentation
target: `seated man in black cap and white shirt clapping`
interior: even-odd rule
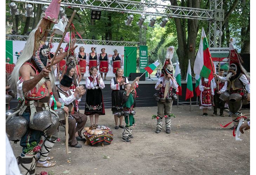
[[[82,130],[86,124],[87,116],[79,112],[75,106],[75,100],[81,99],[85,94],[86,90],[83,89],[83,86],[76,87],[75,92],[69,90],[69,87],[72,85],[73,79],[69,78],[67,75],[64,75],[60,81],[60,85],[57,86],[59,92],[59,102],[63,106],[68,107],[68,145],[75,148],[81,148],[82,145],[78,141],[85,141],[85,138],[82,138]],[[76,123],[78,123],[76,125]]]

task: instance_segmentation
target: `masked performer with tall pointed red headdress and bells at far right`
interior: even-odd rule
[[[227,91],[223,92],[220,99],[228,101],[230,116],[232,117],[234,127],[238,126],[238,122],[242,116],[242,105],[248,104],[247,93],[250,93],[250,76],[243,68],[242,58],[234,48],[234,38],[230,39],[229,43],[229,73],[227,77],[218,79],[227,81]]]

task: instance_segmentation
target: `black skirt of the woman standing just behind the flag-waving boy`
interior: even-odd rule
[[[123,93],[125,90],[113,90],[112,91],[112,113],[115,114],[117,112],[121,112],[123,110],[123,106],[121,105],[123,101]]]

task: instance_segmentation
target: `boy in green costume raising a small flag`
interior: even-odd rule
[[[133,117],[135,114],[135,98],[133,87],[135,86],[136,81],[139,81],[139,79],[140,77],[136,77],[132,84],[127,83],[124,85],[125,92],[123,93],[123,114],[126,126],[124,127],[122,140],[125,142],[131,142],[129,138],[133,138],[132,129],[133,125],[135,124],[135,119]]]

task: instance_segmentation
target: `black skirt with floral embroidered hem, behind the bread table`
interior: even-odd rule
[[[86,92],[85,114],[105,115],[103,96],[101,89],[88,89]]]

